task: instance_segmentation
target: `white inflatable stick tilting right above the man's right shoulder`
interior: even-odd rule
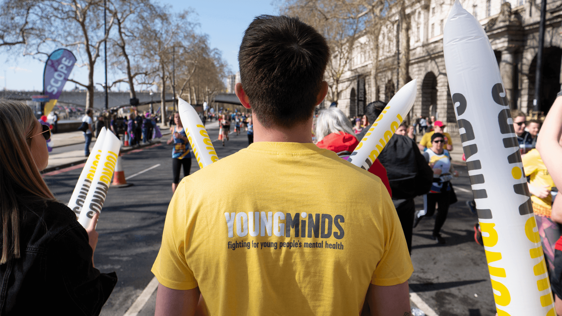
[[[387,106],[374,121],[365,137],[347,159],[352,164],[369,170],[380,151],[398,129],[416,100],[418,79],[406,83],[388,102]]]

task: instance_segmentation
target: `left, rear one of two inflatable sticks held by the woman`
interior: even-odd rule
[[[92,152],[90,156],[88,156],[88,160],[84,164],[84,168],[80,173],[80,177],[78,177],[78,182],[76,182],[76,186],[74,187],[74,191],[72,192],[72,196],[70,197],[69,204],[67,205],[70,207],[71,210],[76,213],[76,218],[80,215],[80,210],[84,205],[84,200],[86,199],[86,195],[92,185],[92,180],[94,178],[94,173],[96,173],[96,168],[98,166],[99,157],[101,157],[102,153],[102,144],[103,139],[106,136],[106,128],[102,127],[101,132],[96,139],[96,143],[92,148]]]

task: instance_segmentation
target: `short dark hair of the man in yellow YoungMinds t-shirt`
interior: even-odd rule
[[[326,39],[298,17],[255,17],[242,38],[238,63],[260,123],[291,128],[310,119],[329,57]]]

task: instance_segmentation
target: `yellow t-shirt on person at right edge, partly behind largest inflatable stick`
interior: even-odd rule
[[[546,170],[545,163],[542,162],[538,150],[532,149],[523,156],[523,169],[525,170],[525,177],[531,177],[529,179],[531,185],[535,187],[550,186],[550,189],[555,186],[554,180],[550,177],[549,170]],[[552,195],[550,194],[546,198],[531,195],[531,201],[547,209],[552,209]]]

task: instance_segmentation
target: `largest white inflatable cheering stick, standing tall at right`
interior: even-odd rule
[[[455,1],[445,66],[498,316],[556,316],[519,146],[482,25]]]

